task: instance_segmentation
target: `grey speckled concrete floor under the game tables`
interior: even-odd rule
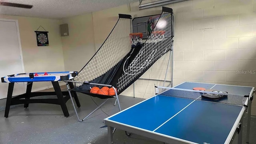
[[[90,96],[78,94],[81,107],[78,113],[84,118],[97,106]],[[119,96],[121,108],[127,108],[141,98]],[[104,100],[93,98],[97,104]],[[108,115],[118,112],[118,106],[113,106],[115,99],[109,99],[102,110]],[[5,100],[0,100],[5,105]],[[86,121],[78,122],[71,100],[66,103],[70,116],[64,117],[59,105],[29,104],[12,106],[9,117],[4,118],[4,109],[0,110],[0,144],[107,144],[107,128],[103,119],[108,116],[97,110]],[[3,106],[2,106],[3,107]],[[1,106],[0,106],[1,108]],[[246,144],[247,116],[244,117],[243,144]],[[237,136],[233,144],[237,143]],[[163,144],[150,138],[132,134],[126,136],[124,131],[116,130],[114,144]],[[256,116],[251,118],[250,144],[256,144]]]

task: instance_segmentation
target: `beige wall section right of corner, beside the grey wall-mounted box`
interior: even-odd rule
[[[80,71],[95,54],[92,14],[60,20],[68,24],[69,36],[62,36],[63,57],[66,71]]]

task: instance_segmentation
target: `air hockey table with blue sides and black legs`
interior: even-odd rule
[[[61,106],[64,116],[68,117],[68,109],[66,102],[69,100],[69,93],[62,92],[58,81],[71,80],[77,75],[77,72],[38,72],[38,73],[22,73],[12,74],[1,78],[3,83],[9,83],[6,107],[4,117],[8,118],[10,106],[16,104],[24,104],[24,108],[28,108],[29,103],[46,103],[46,104],[58,104]],[[27,82],[26,93],[18,96],[12,96],[14,89],[14,83]],[[52,86],[55,92],[31,92],[33,82],[52,82]],[[68,82],[68,85],[74,88],[74,85]],[[57,96],[57,98],[44,98],[44,99],[30,99],[36,96]],[[80,103],[76,93],[71,93],[76,101],[76,105],[80,107]],[[63,97],[65,96],[65,97]]]

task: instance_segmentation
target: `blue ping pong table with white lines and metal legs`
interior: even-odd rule
[[[172,96],[187,94],[194,87],[228,92],[232,96],[242,96],[244,104],[224,104],[198,99]],[[180,90],[175,92],[175,89]],[[117,128],[134,134],[159,140],[168,144],[229,144],[238,134],[238,144],[242,143],[242,121],[248,112],[247,142],[250,132],[250,111],[254,87],[222,84],[184,82],[170,94],[156,94],[106,119],[108,144],[113,142],[113,129]]]

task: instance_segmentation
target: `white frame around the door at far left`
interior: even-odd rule
[[[15,22],[16,30],[17,30],[17,37],[18,37],[18,46],[19,46],[19,50],[20,50],[21,68],[22,68],[22,73],[24,73],[25,72],[25,68],[24,68],[24,62],[23,62],[23,56],[22,56],[22,47],[21,47],[20,29],[19,29],[18,20],[0,18],[0,21]]]

